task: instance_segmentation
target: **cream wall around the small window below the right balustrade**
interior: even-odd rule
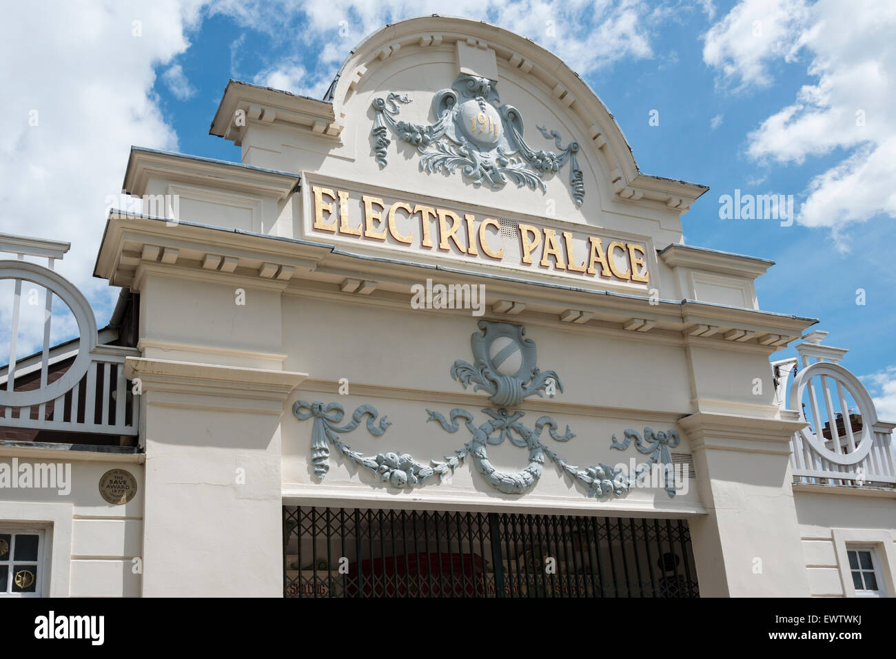
[[[846,543],[864,543],[877,549],[877,558],[883,563],[883,585],[887,595],[896,596],[893,492],[863,492],[849,488],[829,493],[812,485],[795,485],[794,489],[797,490],[794,492],[797,522],[812,595],[855,596],[843,549]]]

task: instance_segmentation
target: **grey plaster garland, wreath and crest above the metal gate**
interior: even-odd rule
[[[506,494],[522,494],[529,492],[538,483],[547,458],[558,466],[564,475],[575,483],[586,488],[589,497],[619,497],[631,490],[632,484],[642,475],[646,466],[636,470],[636,474],[623,475],[622,469],[599,463],[579,469],[569,464],[555,451],[548,449],[541,441],[541,433],[547,428],[551,439],[559,442],[570,441],[575,437],[569,426],[561,434],[559,425],[550,416],[540,416],[533,428],[521,422],[525,413],[508,410],[509,405],[517,405],[529,396],[542,396],[543,391],[553,396],[553,390],[563,391],[559,376],[554,371],[541,372],[536,366],[537,352],[535,342],[526,337],[526,329],[521,325],[506,322],[479,321],[481,334],[474,333],[470,337],[470,348],[476,357],[474,364],[459,359],[452,364],[453,380],[461,382],[464,389],[474,384],[473,390],[485,390],[497,409],[484,408],[482,412],[490,418],[483,424],[475,424],[473,415],[459,407],[452,409],[446,419],[439,412],[427,409],[427,422],[435,421],[446,432],[458,432],[460,421],[470,432],[470,441],[454,449],[452,455],[444,456],[444,460],[431,460],[424,465],[409,453],[388,452],[365,456],[352,449],[340,440],[340,434],[351,432],[367,417],[367,430],[375,437],[383,435],[391,425],[385,416],[377,422],[379,413],[375,407],[362,405],[351,415],[351,421],[339,425],[345,416],[345,410],[339,403],[309,403],[299,400],[293,405],[293,414],[299,419],[314,417],[311,432],[311,461],[314,475],[323,480],[330,470],[330,446],[358,469],[366,469],[377,475],[383,482],[399,489],[410,489],[424,485],[437,476],[442,481],[446,476],[470,458],[476,470],[499,492]],[[514,370],[515,367],[515,370]],[[499,471],[488,460],[488,445],[497,445],[510,441],[513,446],[529,450],[529,465],[521,472],[505,473]],[[652,462],[661,457],[664,465],[670,465],[668,447],[676,447],[679,437],[675,431],[654,433],[650,428],[644,429],[644,439],[632,430],[625,431],[625,441],[617,442],[613,436],[611,449],[624,450],[634,440],[636,448],[642,453],[650,453]],[[666,481],[669,496],[675,496],[674,483]]]

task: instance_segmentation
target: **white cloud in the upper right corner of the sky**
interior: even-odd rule
[[[752,47],[753,20],[771,25]],[[758,18],[757,18],[758,17]],[[798,53],[806,73],[794,102],[748,136],[747,154],[759,162],[801,164],[846,150],[836,165],[807,184],[797,221],[830,227],[849,249],[844,228],[878,215],[896,217],[896,4],[889,0],[745,0],[706,35],[703,58],[741,88],[767,85],[768,64]],[[745,37],[745,34],[747,35]],[[771,40],[770,40],[771,39]],[[782,47],[771,48],[774,39]]]

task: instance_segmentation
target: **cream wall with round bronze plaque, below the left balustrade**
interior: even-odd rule
[[[4,449],[4,453],[9,449]],[[73,451],[18,449],[19,464],[71,463],[72,492],[0,490],[0,526],[28,523],[47,528],[52,565],[46,595],[54,597],[134,597],[141,595],[143,466],[134,460],[113,461],[105,454],[84,457]],[[0,455],[12,464],[12,456]],[[120,506],[99,494],[99,479],[109,469],[125,469],[137,481],[134,499]]]

